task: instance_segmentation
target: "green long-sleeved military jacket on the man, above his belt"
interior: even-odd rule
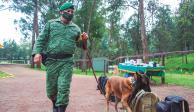
[[[63,24],[60,18],[50,20],[36,40],[33,54],[74,54],[76,46],[82,44],[80,34],[80,28],[73,22]]]

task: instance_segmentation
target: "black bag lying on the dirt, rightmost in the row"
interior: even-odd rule
[[[167,96],[156,108],[157,112],[189,112],[188,102],[180,96]]]

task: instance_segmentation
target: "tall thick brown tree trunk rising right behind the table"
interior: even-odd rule
[[[148,63],[148,46],[147,46],[147,38],[146,38],[146,30],[145,30],[145,19],[144,19],[144,0],[139,0],[139,12],[140,12],[140,20],[141,20],[141,41],[143,47],[143,60],[145,63]]]

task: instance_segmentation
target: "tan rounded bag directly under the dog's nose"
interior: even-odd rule
[[[145,92],[143,89],[139,91],[135,98],[132,99],[132,112],[156,112],[156,104],[159,98],[153,92]]]

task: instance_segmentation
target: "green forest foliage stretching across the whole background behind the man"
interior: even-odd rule
[[[12,10],[24,14],[20,20],[15,20],[15,24],[19,24],[27,39],[34,31],[35,1],[37,0],[10,2]],[[106,56],[114,59],[123,55],[142,54],[139,0],[38,0],[39,31],[48,20],[60,16],[58,7],[65,1],[75,4],[74,22],[82,31],[89,33],[91,57]],[[175,15],[158,0],[145,0],[144,4],[146,35],[151,53],[194,48],[193,1],[181,3]],[[124,12],[129,7],[134,9],[134,14],[122,22],[122,18],[127,16]],[[4,5],[0,6],[0,10],[4,8]],[[76,58],[81,57],[81,52],[76,51]]]

